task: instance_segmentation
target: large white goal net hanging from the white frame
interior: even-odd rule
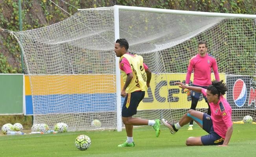
[[[34,123],[64,122],[70,131],[117,127],[116,38],[126,38],[129,52],[143,56],[152,72],[135,117],[177,121],[188,111],[191,98],[174,82],[185,81],[198,42],[206,41],[227,83],[233,121],[255,119],[255,19],[131,8],[119,9],[116,22],[114,7],[81,9],[59,23],[13,32],[28,69]],[[197,110],[207,110],[203,97]],[[101,125],[92,125],[94,119]]]

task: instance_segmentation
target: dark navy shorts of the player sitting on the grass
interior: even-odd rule
[[[208,114],[203,115],[203,130],[209,133],[209,135],[201,136],[203,145],[219,145],[223,144],[224,138],[214,132],[211,116]]]

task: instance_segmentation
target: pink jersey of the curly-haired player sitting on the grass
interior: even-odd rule
[[[201,92],[206,96],[206,89],[202,89]],[[220,96],[217,104],[209,103],[211,108],[211,118],[214,131],[225,139],[228,127],[232,126],[232,109],[227,100]]]

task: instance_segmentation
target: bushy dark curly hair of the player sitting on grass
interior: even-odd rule
[[[226,83],[223,83],[223,80],[214,80],[212,81],[212,85],[209,85],[207,87],[207,90],[209,90],[213,95],[218,94],[218,96],[220,96],[226,94],[228,88],[226,86]]]

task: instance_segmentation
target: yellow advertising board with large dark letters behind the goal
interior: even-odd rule
[[[220,79],[225,81],[225,74],[221,73]],[[143,101],[138,106],[138,110],[155,109],[180,109],[190,108],[191,100],[187,94],[182,93],[175,82],[185,82],[186,74],[152,74],[151,88],[147,90]],[[212,74],[214,78],[214,74]],[[191,76],[193,80],[193,74]],[[204,99],[199,100],[197,108],[208,108]]]

